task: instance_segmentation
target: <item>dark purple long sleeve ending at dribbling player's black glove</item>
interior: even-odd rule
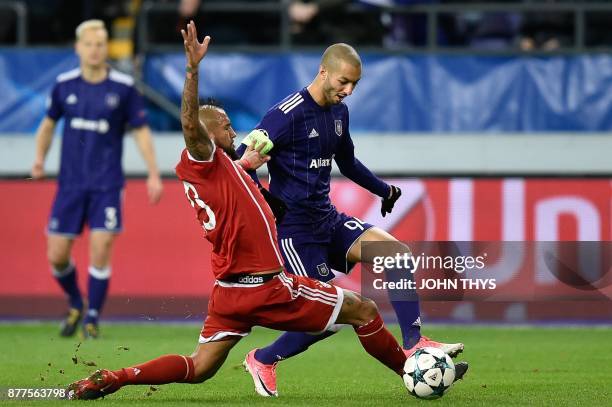
[[[338,169],[348,179],[362,188],[367,189],[382,198],[389,196],[389,185],[372,173],[355,157],[355,145],[351,139],[348,125],[348,111],[346,114],[346,128],[342,131],[342,138],[334,157]]]

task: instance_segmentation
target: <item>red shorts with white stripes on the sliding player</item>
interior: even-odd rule
[[[246,336],[253,326],[322,332],[336,322],[342,289],[284,272],[255,286],[217,281],[208,302],[200,343]]]

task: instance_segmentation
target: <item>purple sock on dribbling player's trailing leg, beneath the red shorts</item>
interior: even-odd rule
[[[276,341],[265,348],[255,351],[255,359],[266,365],[290,358],[304,352],[308,347],[320,340],[335,334],[335,331],[325,331],[319,335],[309,335],[305,332],[285,332]]]

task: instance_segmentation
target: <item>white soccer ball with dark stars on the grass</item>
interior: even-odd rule
[[[442,397],[455,381],[455,364],[438,348],[421,348],[404,364],[404,384],[417,398]]]

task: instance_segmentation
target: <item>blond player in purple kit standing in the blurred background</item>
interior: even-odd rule
[[[55,125],[61,117],[65,120],[58,189],[47,240],[53,276],[68,296],[70,306],[61,336],[72,336],[83,318],[83,298],[70,254],[74,238],[85,223],[91,234],[83,335],[96,338],[99,333],[98,318],[111,276],[113,241],[122,228],[125,180],[121,157],[126,125],[133,129],[147,166],[150,203],[157,203],[162,194],[142,98],[130,76],[107,65],[107,45],[108,33],[101,20],[87,20],[77,27],[76,53],[80,66],[57,77],[47,115],[36,133],[32,177],[38,179],[44,176],[44,161]]]

